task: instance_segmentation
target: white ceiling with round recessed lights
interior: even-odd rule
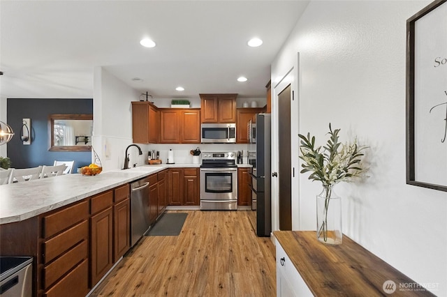
[[[91,98],[95,66],[154,98],[262,98],[307,3],[1,0],[1,98]],[[255,36],[263,45],[248,47]],[[144,37],[156,47],[142,47]]]

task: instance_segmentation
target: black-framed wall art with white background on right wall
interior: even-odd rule
[[[406,183],[447,192],[447,1],[406,21]]]

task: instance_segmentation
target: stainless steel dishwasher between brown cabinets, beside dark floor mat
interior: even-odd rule
[[[149,178],[131,183],[131,246],[149,229]]]

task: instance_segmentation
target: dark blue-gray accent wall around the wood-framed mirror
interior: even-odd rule
[[[48,151],[49,114],[93,114],[93,99],[39,99],[8,98],[7,123],[15,135],[6,144],[7,154],[14,168],[53,165],[54,160],[75,160],[73,173],[77,167],[89,165],[90,152]],[[24,145],[20,139],[22,119],[31,119],[31,144]]]

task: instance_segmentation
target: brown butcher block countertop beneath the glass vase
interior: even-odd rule
[[[396,284],[390,296],[434,296],[348,236],[342,245],[320,243],[315,231],[274,231],[274,237],[314,296],[388,296],[387,280]]]

